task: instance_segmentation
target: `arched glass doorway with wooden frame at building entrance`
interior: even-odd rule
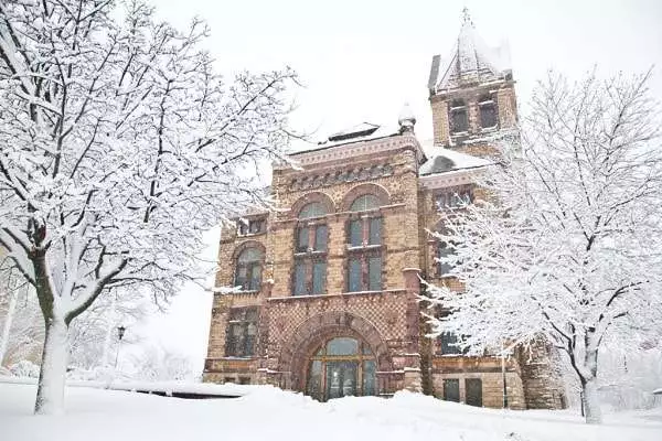
[[[353,337],[333,337],[310,357],[306,395],[320,401],[376,394],[376,359],[370,346]]]

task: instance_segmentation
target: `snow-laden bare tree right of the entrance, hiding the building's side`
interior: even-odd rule
[[[466,292],[433,289],[452,314],[437,332],[498,351],[544,335],[569,357],[587,422],[601,419],[596,376],[606,336],[637,351],[662,320],[662,154],[650,74],[533,95],[520,148],[481,179],[488,197],[446,220],[445,260]]]

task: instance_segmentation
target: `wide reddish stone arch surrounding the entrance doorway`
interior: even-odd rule
[[[324,312],[306,320],[284,340],[279,370],[291,373],[291,385],[295,389],[305,389],[305,370],[313,352],[337,336],[361,340],[370,346],[378,370],[393,370],[386,342],[371,322],[349,312]]]

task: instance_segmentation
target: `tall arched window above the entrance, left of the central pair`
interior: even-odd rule
[[[321,202],[311,202],[299,212],[299,224],[295,232],[292,295],[324,293],[329,227],[323,216],[327,214],[327,207]],[[319,219],[301,222],[313,218]]]

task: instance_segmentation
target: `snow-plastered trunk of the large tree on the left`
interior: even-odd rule
[[[56,415],[64,411],[64,384],[68,358],[68,326],[62,318],[46,320],[34,413]]]

